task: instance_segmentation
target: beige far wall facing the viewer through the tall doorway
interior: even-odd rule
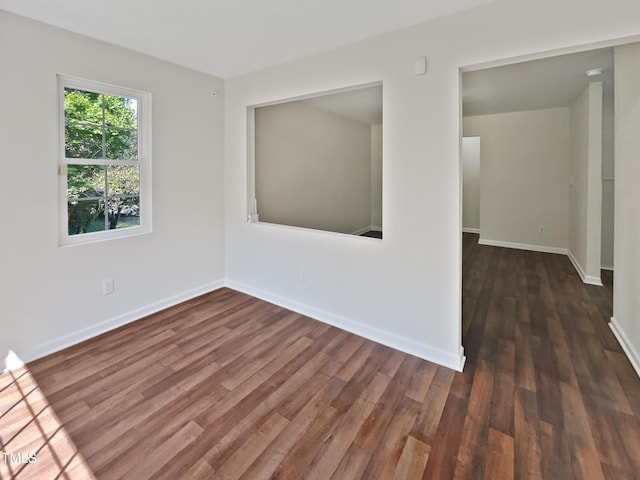
[[[480,241],[566,249],[569,109],[465,117],[464,134],[481,138]]]

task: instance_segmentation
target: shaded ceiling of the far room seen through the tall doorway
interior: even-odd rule
[[[587,77],[591,68],[602,68]],[[465,116],[567,107],[590,81],[613,95],[613,49],[603,48],[462,74]]]

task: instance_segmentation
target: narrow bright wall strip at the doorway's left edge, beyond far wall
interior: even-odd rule
[[[480,229],[480,137],[462,139],[462,229]]]

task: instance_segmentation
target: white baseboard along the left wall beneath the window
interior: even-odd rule
[[[122,315],[118,315],[102,322],[88,325],[84,328],[81,328],[80,330],[76,330],[75,332],[61,335],[57,338],[53,338],[44,343],[41,343],[40,345],[28,348],[24,352],[20,353],[20,359],[25,363],[32,362],[33,360],[46,357],[47,355],[51,355],[52,353],[71,347],[73,345],[76,345],[77,343],[96,337],[105,332],[121,327],[122,325],[126,325],[127,323],[140,320],[141,318],[146,317],[147,315],[151,315],[152,313],[159,312],[160,310],[164,310],[165,308],[172,307],[174,305],[177,305],[178,303],[185,302],[199,295],[212,292],[222,287],[224,287],[224,281],[222,280],[207,283],[205,285],[201,285],[200,287],[187,290],[186,292],[173,295],[158,302],[136,308],[135,310],[123,313]]]

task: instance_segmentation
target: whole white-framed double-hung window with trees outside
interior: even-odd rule
[[[151,95],[58,83],[61,244],[151,231]]]

